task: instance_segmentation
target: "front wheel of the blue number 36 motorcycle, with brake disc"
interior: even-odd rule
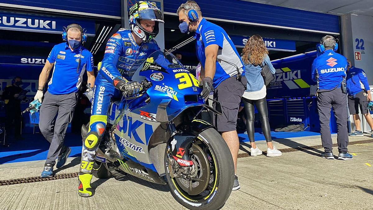
[[[180,166],[166,148],[164,166],[173,198],[188,209],[222,208],[234,180],[232,155],[225,140],[209,128],[188,149],[192,166]]]

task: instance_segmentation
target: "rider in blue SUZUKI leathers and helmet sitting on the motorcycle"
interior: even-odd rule
[[[131,30],[120,29],[107,42],[101,70],[94,85],[92,115],[79,172],[78,194],[82,197],[93,195],[91,189],[92,169],[98,146],[105,133],[107,110],[112,97],[120,91],[135,96],[142,90],[137,81],[129,81],[147,57],[159,46],[153,38],[163,23],[160,10],[151,3],[139,1],[129,9]],[[100,95],[100,97],[97,97]]]

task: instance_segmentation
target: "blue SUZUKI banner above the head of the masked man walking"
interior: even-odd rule
[[[63,27],[67,27],[72,23],[79,24],[82,28],[85,28],[86,35],[94,36],[94,21],[0,12],[0,29],[4,30],[60,34],[63,32]]]

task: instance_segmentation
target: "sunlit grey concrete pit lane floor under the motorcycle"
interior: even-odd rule
[[[336,143],[336,135],[333,135]],[[241,143],[237,174],[241,189],[233,191],[223,209],[373,209],[373,138],[350,137],[353,160],[326,160],[320,137],[275,139],[280,157],[250,157]],[[257,146],[266,151],[266,142]],[[334,147],[334,155],[338,149]],[[60,177],[76,174],[80,158],[69,158]],[[0,209],[185,209],[169,192],[133,176],[96,179],[95,195],[77,194],[78,178],[9,185],[11,179],[40,176],[44,161],[0,165]]]

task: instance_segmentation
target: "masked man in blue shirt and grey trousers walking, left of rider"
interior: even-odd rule
[[[85,70],[87,70],[88,83],[93,86],[95,81],[92,54],[82,46],[82,42],[87,38],[83,34],[82,27],[78,24],[70,24],[62,36],[66,42],[55,45],[51,50],[40,73],[39,87],[34,98],[43,102],[40,108],[39,127],[43,136],[50,142],[47,160],[41,173],[43,178],[53,176],[53,166],[57,157],[58,169],[66,163],[66,158],[71,152],[71,148],[63,145],[63,140],[73,117]],[[52,77],[43,100],[44,85],[52,68]],[[54,120],[56,115],[57,118]]]

